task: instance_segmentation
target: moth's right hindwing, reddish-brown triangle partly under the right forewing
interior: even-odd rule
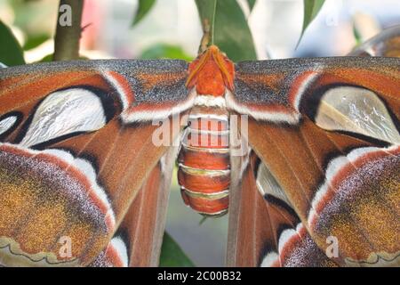
[[[325,256],[253,151],[231,157],[228,266],[337,266]]]

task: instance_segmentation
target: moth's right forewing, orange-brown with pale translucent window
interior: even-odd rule
[[[249,116],[241,133],[318,247],[338,241],[339,265],[398,263],[399,67],[388,58],[236,66],[227,104]]]

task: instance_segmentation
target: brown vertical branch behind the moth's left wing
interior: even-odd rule
[[[83,9],[84,0],[60,0],[53,61],[68,61],[79,58]]]

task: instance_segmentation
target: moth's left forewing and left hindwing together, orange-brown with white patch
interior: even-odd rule
[[[142,243],[132,265],[155,265],[164,228],[158,199],[167,195],[157,194],[170,175],[151,179],[180,132],[172,125],[160,134],[159,123],[190,107],[185,80],[184,61],[0,69],[0,262],[89,265],[122,224],[127,239],[114,243]],[[138,203],[148,207],[138,212]],[[148,233],[131,229],[127,213]],[[153,242],[140,240],[150,235]]]

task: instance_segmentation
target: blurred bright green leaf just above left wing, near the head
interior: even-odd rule
[[[180,59],[192,61],[193,57],[185,53],[178,45],[156,44],[141,53],[142,59]]]

